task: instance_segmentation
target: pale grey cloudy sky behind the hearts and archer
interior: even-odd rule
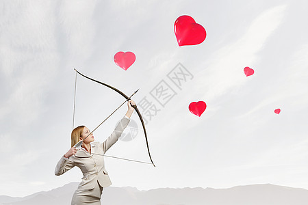
[[[112,85],[139,105],[156,165],[105,158],[114,187],[229,188],[279,184],[308,189],[308,2],[0,2],[0,195],[26,196],[80,181],[75,167],[55,176],[70,148],[75,70]],[[204,42],[179,46],[174,24],[192,16]],[[131,51],[127,70],[114,55]],[[244,68],[255,70],[246,77]],[[189,73],[177,86],[170,76]],[[172,88],[159,104],[155,88]],[[147,100],[158,111],[142,109]],[[77,76],[75,126],[94,129],[123,96]],[[204,101],[201,117],[191,102]],[[275,109],[281,113],[274,113]],[[103,142],[127,105],[94,132]],[[149,162],[142,125],[106,154]]]

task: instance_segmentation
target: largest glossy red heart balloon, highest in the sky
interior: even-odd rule
[[[205,40],[207,32],[202,25],[194,21],[194,18],[179,16],[175,20],[175,36],[179,46],[188,46],[201,44]]]

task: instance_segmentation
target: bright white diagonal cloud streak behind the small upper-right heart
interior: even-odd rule
[[[207,69],[198,73],[198,76],[203,77],[202,81],[198,81],[198,87],[211,88],[204,98],[212,100],[234,87],[244,86],[249,81],[244,76],[243,70],[246,66],[255,69],[255,76],[257,75],[254,65],[257,63],[258,53],[266,40],[283,23],[286,8],[286,5],[279,5],[260,14],[240,40],[224,46],[213,55],[214,59]]]

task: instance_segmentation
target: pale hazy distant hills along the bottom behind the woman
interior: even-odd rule
[[[68,205],[78,182],[71,182],[27,197],[0,196],[1,205]],[[273,184],[229,189],[160,188],[139,191],[133,187],[107,187],[102,205],[307,205],[308,190]]]

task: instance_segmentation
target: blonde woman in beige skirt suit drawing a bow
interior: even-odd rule
[[[72,205],[101,204],[103,187],[110,186],[112,182],[105,169],[103,156],[99,154],[105,154],[105,152],[118,141],[118,137],[123,133],[134,111],[132,105],[136,104],[133,100],[129,100],[127,103],[128,111],[125,117],[120,120],[112,135],[103,143],[93,142],[94,136],[93,134],[88,136],[90,131],[86,126],[78,126],[72,131],[72,148],[62,156],[55,167],[56,176],[64,174],[75,166],[79,167],[84,174],[78,189],[73,195]],[[83,139],[85,140],[82,143],[81,149],[77,150],[73,147],[78,141]]]

